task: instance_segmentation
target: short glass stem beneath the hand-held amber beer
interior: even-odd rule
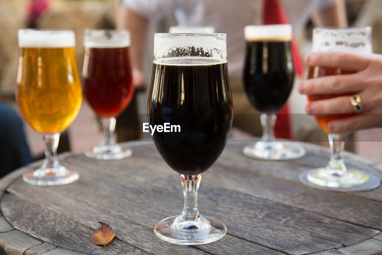
[[[347,136],[347,134],[328,134],[330,161],[327,168],[342,170],[342,175],[344,175],[347,171],[341,155]]]

